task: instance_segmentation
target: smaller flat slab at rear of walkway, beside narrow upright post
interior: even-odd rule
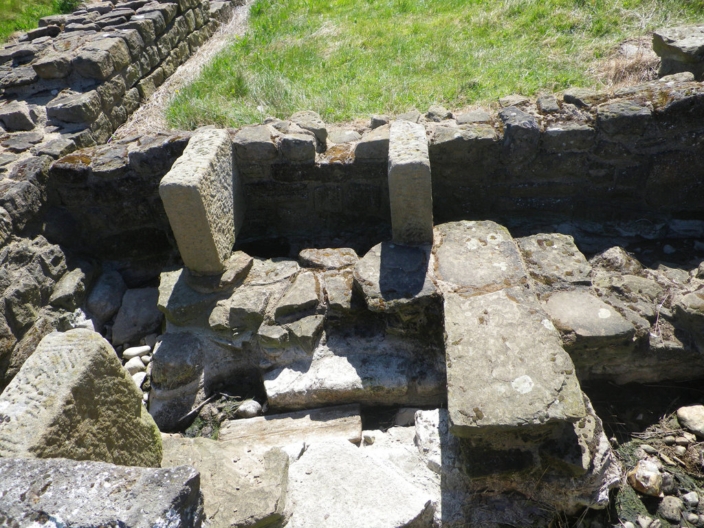
[[[502,225],[462,220],[436,230],[436,276],[443,291],[480,294],[527,282],[516,243]]]

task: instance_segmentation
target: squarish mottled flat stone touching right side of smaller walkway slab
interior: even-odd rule
[[[570,235],[533,234],[516,242],[537,282],[547,286],[589,282],[591,266]]]

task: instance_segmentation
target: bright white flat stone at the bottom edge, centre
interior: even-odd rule
[[[428,494],[344,441],[312,444],[291,465],[289,501],[289,528],[411,528],[433,515]]]

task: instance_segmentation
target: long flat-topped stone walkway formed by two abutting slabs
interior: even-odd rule
[[[540,441],[582,419],[574,365],[508,230],[486,221],[437,230],[451,432],[507,444],[505,432],[520,430]]]

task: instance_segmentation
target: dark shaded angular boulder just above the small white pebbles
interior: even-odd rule
[[[136,343],[161,328],[163,315],[157,308],[156,288],[128,289],[113,325],[113,344]]]

